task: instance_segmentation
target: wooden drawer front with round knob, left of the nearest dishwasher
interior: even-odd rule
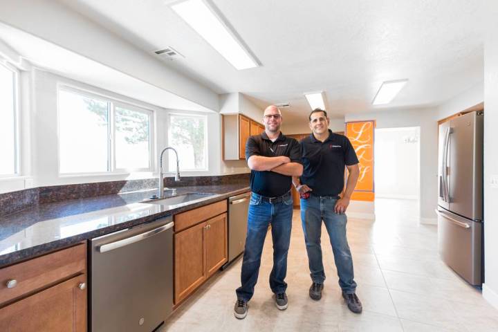
[[[85,270],[86,243],[1,268],[0,306]],[[12,288],[8,288],[8,284]]]

